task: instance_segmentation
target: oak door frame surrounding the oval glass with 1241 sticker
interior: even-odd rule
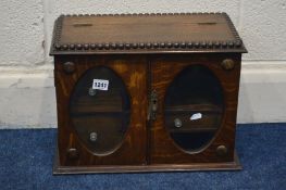
[[[55,56],[54,84],[57,88],[59,150],[61,165],[129,165],[146,163],[146,112],[147,65],[142,56]],[[63,63],[74,62],[75,72],[66,74]],[[99,156],[85,147],[74,130],[69,115],[69,103],[73,88],[86,71],[104,65],[122,77],[132,97],[130,124],[123,143],[115,152]],[[85,109],[85,107],[84,107]],[[80,110],[83,111],[83,110]],[[84,110],[86,111],[86,110]],[[138,135],[140,136],[138,138]],[[66,150],[75,148],[78,160],[66,157]]]

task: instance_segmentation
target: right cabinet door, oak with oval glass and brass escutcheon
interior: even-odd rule
[[[239,58],[165,56],[151,63],[157,116],[151,163],[227,162],[234,159]]]

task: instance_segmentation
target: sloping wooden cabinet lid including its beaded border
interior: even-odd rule
[[[50,54],[247,50],[226,13],[61,15]]]

